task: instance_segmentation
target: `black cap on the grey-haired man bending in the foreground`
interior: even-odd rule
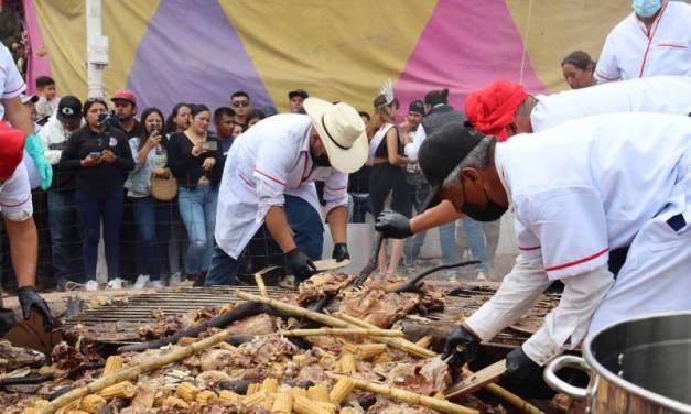
[[[451,122],[422,142],[418,164],[431,186],[423,211],[441,201],[438,193],[444,179],[484,138],[468,122]]]

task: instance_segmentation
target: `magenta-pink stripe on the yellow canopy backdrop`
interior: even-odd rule
[[[449,103],[462,110],[468,92],[497,78],[519,81],[522,53],[505,1],[439,0],[396,84],[396,95],[407,108],[432,89],[449,88]],[[546,90],[528,56],[523,85],[530,92]]]

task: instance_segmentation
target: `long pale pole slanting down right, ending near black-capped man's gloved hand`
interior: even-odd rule
[[[361,320],[353,318],[352,316],[347,316],[348,319],[345,319],[345,317],[342,318],[341,316],[343,314],[338,314],[339,317],[333,317],[330,315],[321,314],[318,312],[312,312],[312,310],[305,309],[304,307],[289,305],[287,303],[272,299],[270,297],[252,295],[251,293],[247,293],[242,291],[235,291],[235,295],[241,299],[262,303],[264,305],[276,307],[282,313],[290,314],[293,316],[305,317],[307,319],[316,320],[322,325],[327,325],[334,328],[345,329],[345,328],[358,328],[359,327],[359,328],[367,328],[367,329],[379,329],[378,327],[374,325],[363,323]],[[357,324],[352,320],[356,320]],[[375,337],[371,337],[371,339],[377,342],[387,344],[391,346],[392,348],[400,349],[402,351],[406,351],[408,353],[414,355],[420,358],[430,358],[430,357],[436,356],[436,353],[434,353],[433,351],[422,348],[422,347],[418,347],[413,342],[404,340],[402,338],[385,338],[382,336],[375,336]]]

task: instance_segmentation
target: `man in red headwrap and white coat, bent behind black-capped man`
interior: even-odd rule
[[[538,96],[526,94],[521,84],[495,80],[465,99],[468,122],[498,141],[517,133],[540,132],[572,119],[615,112],[689,115],[691,78],[658,76]],[[377,229],[387,237],[406,238],[461,217],[447,203],[442,203],[412,219],[385,211]]]

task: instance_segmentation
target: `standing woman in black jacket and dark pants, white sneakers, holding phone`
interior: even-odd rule
[[[84,103],[86,124],[69,137],[58,167],[76,171],[77,209],[84,229],[85,288],[96,291],[96,264],[100,226],[104,227],[108,287],[122,288],[119,277],[120,224],[125,192],[122,184],[132,170],[132,153],[127,138],[108,122],[108,106],[102,99]]]

